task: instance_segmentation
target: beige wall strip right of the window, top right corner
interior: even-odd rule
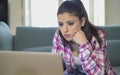
[[[120,25],[120,0],[106,0],[106,24]]]

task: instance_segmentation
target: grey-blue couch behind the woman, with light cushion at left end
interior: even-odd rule
[[[120,25],[101,26],[107,33],[107,54],[112,66],[120,75]],[[17,27],[12,35],[10,28],[0,22],[0,50],[50,52],[56,28]]]

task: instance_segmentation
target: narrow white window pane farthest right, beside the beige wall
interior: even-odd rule
[[[94,24],[105,25],[105,0],[94,0]]]

